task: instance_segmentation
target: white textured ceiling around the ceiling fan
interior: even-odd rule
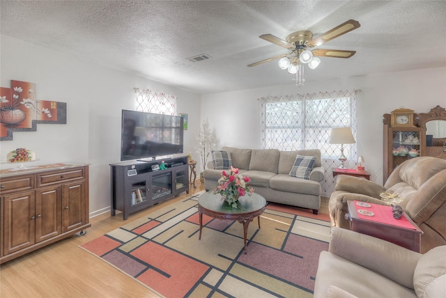
[[[277,61],[288,51],[271,33],[316,37],[348,19],[359,29],[321,49],[357,51],[321,58],[306,81],[446,65],[446,1],[6,1],[1,33],[195,93],[293,84]],[[186,58],[208,54],[191,62]]]

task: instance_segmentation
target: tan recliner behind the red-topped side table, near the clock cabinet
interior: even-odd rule
[[[399,203],[423,231],[421,252],[446,244],[446,160],[416,157],[400,164],[384,186],[364,178],[339,175],[328,209],[331,226],[349,228],[347,201],[387,205],[380,193],[399,194]]]

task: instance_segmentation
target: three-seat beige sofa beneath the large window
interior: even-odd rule
[[[325,173],[321,166],[321,151],[255,150],[233,147],[222,147],[221,150],[231,154],[233,167],[251,179],[250,185],[254,187],[254,191],[266,201],[309,208],[314,214],[318,213],[321,206],[320,182],[324,179]],[[316,156],[308,180],[289,175],[298,155]],[[203,175],[204,188],[210,190],[218,184],[222,169],[214,169],[211,161],[206,165]]]

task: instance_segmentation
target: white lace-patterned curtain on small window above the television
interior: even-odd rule
[[[135,101],[137,111],[176,116],[176,96],[139,88],[134,88],[134,93],[137,95]]]

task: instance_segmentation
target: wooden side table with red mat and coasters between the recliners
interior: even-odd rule
[[[351,230],[420,253],[423,231],[406,212],[403,212],[400,219],[394,219],[392,206],[361,201],[348,201],[347,204]]]

